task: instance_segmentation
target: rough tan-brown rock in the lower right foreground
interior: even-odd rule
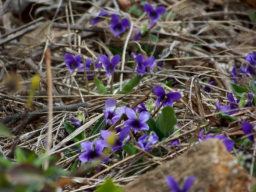
[[[237,164],[222,142],[210,139],[128,183],[125,191],[170,192],[165,182],[167,175],[175,177],[179,183],[184,182],[187,177],[195,176],[196,180],[190,191],[246,192],[255,184],[255,178]]]

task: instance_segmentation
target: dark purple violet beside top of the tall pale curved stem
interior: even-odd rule
[[[116,15],[116,14],[112,15],[111,24],[109,26],[109,29],[111,31],[113,31],[114,37],[125,32],[127,27],[130,27],[128,19],[124,18],[121,21],[119,21],[118,15]]]

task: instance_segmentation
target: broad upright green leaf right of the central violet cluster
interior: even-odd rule
[[[156,120],[156,126],[165,134],[169,136],[174,132],[174,125],[178,123],[174,108],[166,106],[162,109],[162,113]]]

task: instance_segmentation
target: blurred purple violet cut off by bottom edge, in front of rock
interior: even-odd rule
[[[165,177],[165,182],[170,187],[171,192],[189,192],[189,190],[192,187],[192,185],[194,184],[195,180],[196,180],[196,177],[194,177],[194,176],[187,178],[186,181],[184,182],[184,184],[182,186],[182,190],[181,190],[179,183],[177,182],[177,180],[174,177],[169,176],[169,175]]]

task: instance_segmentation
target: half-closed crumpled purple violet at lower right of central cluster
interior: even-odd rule
[[[156,133],[153,133],[151,136],[144,134],[138,139],[137,144],[143,150],[150,151],[150,146],[157,143],[157,141],[158,141],[158,136],[156,135]]]

